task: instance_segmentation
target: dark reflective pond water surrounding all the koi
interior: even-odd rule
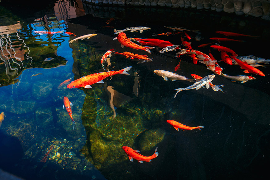
[[[268,21],[193,9],[92,6],[80,0],[49,1],[44,6],[14,2],[0,2],[0,112],[5,115],[0,122],[2,170],[27,180],[268,177],[269,63],[256,67],[265,76],[244,73],[239,65],[220,61],[221,53],[210,47],[218,43],[239,57],[269,59]],[[124,33],[128,38],[156,38],[176,45],[183,44],[183,38],[197,51],[209,55],[210,50],[222,73],[255,79],[232,82],[201,62],[194,64],[187,54],[176,57],[180,49],[160,53],[162,48],[153,48],[150,54],[122,48],[113,40],[118,36],[114,29],[138,26],[151,29]],[[185,35],[164,26],[199,33],[185,31]],[[252,37],[227,37],[216,31]],[[165,32],[181,33],[153,36]],[[93,33],[97,35],[69,43]],[[243,42],[218,42],[209,39],[212,37]],[[198,47],[208,43],[212,44]],[[138,63],[138,59],[112,52],[102,67],[102,55],[112,48],[147,55],[152,61]],[[90,89],[67,88],[83,76],[129,66],[129,75],[106,77],[104,83],[95,83]],[[187,78],[192,78],[191,74],[215,74],[212,83],[224,86],[220,86],[222,91],[211,87],[184,90],[174,98],[175,89],[193,83],[165,81],[154,73],[156,69]],[[74,130],[63,109],[64,96],[73,103]],[[166,122],[168,119],[204,128],[177,131]],[[151,162],[131,162],[123,146],[145,156],[151,156],[158,147],[159,154]]]

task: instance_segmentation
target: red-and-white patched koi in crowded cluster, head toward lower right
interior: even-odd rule
[[[216,68],[215,62],[217,62],[217,60],[212,60],[207,54],[200,52],[200,51],[196,51],[196,50],[189,50],[189,49],[181,49],[181,52],[177,52],[176,54],[196,54],[197,58],[201,59],[202,61],[204,61],[204,64],[207,66],[207,68],[211,71],[214,71]]]

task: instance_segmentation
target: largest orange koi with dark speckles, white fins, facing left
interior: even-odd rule
[[[103,79],[109,76],[113,76],[115,74],[126,74],[127,71],[131,69],[132,66],[126,67],[124,69],[121,69],[119,71],[107,71],[107,72],[101,72],[101,73],[93,73],[89,74],[87,76],[81,77],[79,79],[76,79],[75,81],[72,81],[71,83],[68,84],[67,88],[73,89],[73,88],[79,88],[79,87],[84,87],[84,88],[92,88],[90,85],[95,84],[95,83],[103,83]]]

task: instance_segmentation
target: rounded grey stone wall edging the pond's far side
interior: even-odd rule
[[[270,20],[270,0],[82,0],[91,4],[118,6],[163,6],[197,8],[217,12],[251,15]]]

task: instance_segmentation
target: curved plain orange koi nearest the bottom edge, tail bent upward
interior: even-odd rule
[[[128,158],[131,162],[133,162],[133,159],[136,159],[140,163],[143,163],[143,161],[150,162],[152,159],[158,156],[157,147],[155,150],[155,153],[152,156],[143,156],[141,155],[138,150],[134,150],[128,146],[123,146],[122,149],[127,153]]]

